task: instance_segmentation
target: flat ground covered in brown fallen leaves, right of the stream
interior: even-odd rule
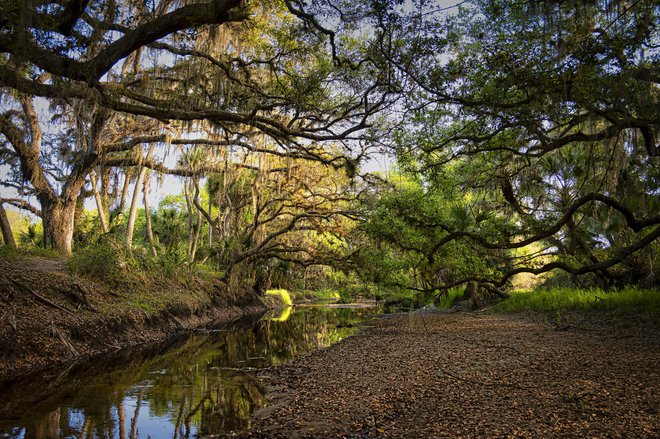
[[[658,322],[419,310],[267,369],[242,437],[660,437]]]

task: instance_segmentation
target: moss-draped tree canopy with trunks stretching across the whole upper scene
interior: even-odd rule
[[[0,10],[1,201],[47,246],[71,251],[93,198],[97,234],[133,245],[141,202],[154,254],[186,241],[259,289],[315,265],[428,292],[657,282],[650,0]],[[377,154],[396,172],[367,174]],[[183,179],[170,213],[148,205],[154,174]]]

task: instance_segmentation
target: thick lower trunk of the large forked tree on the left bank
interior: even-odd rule
[[[53,248],[62,254],[71,254],[75,213],[75,199],[67,202],[61,199],[41,200],[44,245],[46,248]]]

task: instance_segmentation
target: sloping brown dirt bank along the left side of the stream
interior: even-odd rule
[[[266,306],[211,277],[132,277],[109,286],[58,261],[0,260],[0,379],[160,341]]]

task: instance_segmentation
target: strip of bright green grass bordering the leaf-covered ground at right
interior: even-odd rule
[[[660,291],[626,288],[605,292],[599,289],[553,288],[513,293],[493,307],[495,311],[609,311],[612,313],[660,316]]]

